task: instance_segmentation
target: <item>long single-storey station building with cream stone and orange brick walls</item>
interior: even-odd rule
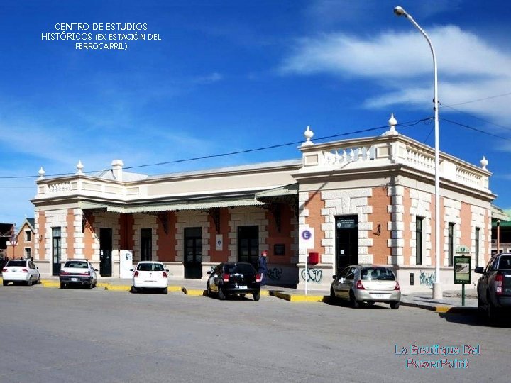
[[[87,258],[102,277],[119,276],[121,250],[133,262],[159,260],[170,277],[207,278],[219,262],[255,264],[268,250],[270,283],[328,289],[346,265],[392,265],[403,285],[434,280],[434,148],[395,131],[312,143],[297,160],[149,176],[123,170],[36,182],[34,260],[58,274]],[[458,246],[472,265],[490,255],[491,173],[444,152],[440,159],[440,278],[452,284]],[[308,258],[309,253],[313,256]],[[477,258],[477,259],[476,259]],[[311,260],[305,269],[307,260]]]

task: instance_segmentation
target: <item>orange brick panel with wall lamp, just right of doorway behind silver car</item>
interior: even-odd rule
[[[388,256],[392,255],[392,249],[388,247],[388,240],[391,232],[388,230],[387,223],[392,220],[388,213],[387,206],[391,204],[392,199],[387,195],[387,187],[374,187],[373,195],[368,198],[368,206],[373,207],[373,213],[368,214],[368,221],[373,222],[373,231],[369,233],[369,238],[373,239],[373,262],[386,265]],[[381,232],[378,235],[378,225]]]

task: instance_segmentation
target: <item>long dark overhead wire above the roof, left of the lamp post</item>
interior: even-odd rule
[[[412,121],[407,121],[407,122],[404,122],[404,123],[398,123],[397,126],[402,126],[404,128],[409,128],[410,126],[417,125],[418,123],[421,123],[423,121],[428,121],[430,119],[431,119],[431,117],[421,118],[419,120],[412,120]],[[339,133],[339,134],[334,134],[334,135],[325,135],[323,137],[315,138],[314,141],[322,141],[322,140],[328,140],[330,138],[339,138],[339,137],[343,137],[343,136],[346,136],[346,135],[352,135],[352,134],[358,134],[358,133],[366,133],[366,132],[370,132],[370,131],[378,131],[378,130],[385,129],[385,128],[388,128],[388,125],[378,126],[378,127],[375,127],[375,128],[360,129],[358,131],[351,131],[351,132]],[[196,161],[196,160],[207,160],[207,159],[210,159],[210,158],[219,158],[219,157],[226,157],[226,156],[229,156],[229,155],[238,155],[238,154],[249,153],[249,152],[258,152],[258,151],[261,151],[261,150],[283,148],[285,146],[299,145],[301,143],[303,143],[303,140],[294,141],[292,143],[282,143],[282,144],[277,144],[277,145],[268,145],[268,146],[263,146],[263,147],[260,147],[260,148],[251,148],[251,149],[246,149],[246,150],[236,150],[234,152],[226,152],[226,153],[220,153],[220,154],[215,154],[215,155],[204,155],[202,157],[191,157],[191,158],[185,158],[185,159],[180,159],[180,160],[172,160],[172,161],[165,161],[165,162],[155,162],[155,163],[144,164],[144,165],[133,165],[133,166],[124,167],[123,169],[124,170],[138,169],[138,168],[141,168],[141,167],[151,167],[151,166],[159,166],[159,165],[170,165],[170,164],[177,164],[177,163],[181,163],[181,162],[192,162],[192,161]],[[95,172],[101,172],[101,171],[104,171],[104,170],[91,170],[89,172],[84,172],[84,173],[95,173]],[[67,176],[67,175],[72,175],[72,174],[73,173],[48,174],[45,177],[62,177],[62,176]],[[37,178],[37,177],[39,177],[39,176],[38,175],[11,176],[11,177],[0,177],[0,179],[21,179],[21,178]]]

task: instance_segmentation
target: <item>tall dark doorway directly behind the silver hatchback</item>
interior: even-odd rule
[[[348,265],[358,264],[358,216],[337,216],[336,275]]]

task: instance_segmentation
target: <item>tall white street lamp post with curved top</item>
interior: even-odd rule
[[[435,282],[433,283],[433,298],[442,298],[442,290],[440,283],[440,155],[439,155],[439,118],[438,118],[438,77],[436,70],[436,55],[433,49],[431,40],[424,30],[417,24],[416,21],[408,14],[401,6],[396,6],[394,13],[397,16],[405,16],[415,28],[419,30],[424,38],[426,38],[429,49],[433,55],[433,72],[434,72],[434,123],[435,123]]]

